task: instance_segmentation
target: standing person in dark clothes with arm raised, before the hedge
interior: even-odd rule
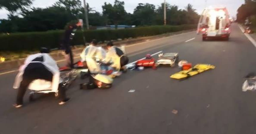
[[[62,49],[64,49],[64,53],[65,53],[64,57],[67,61],[67,66],[69,66],[70,68],[74,68],[73,54],[72,54],[70,42],[75,36],[73,32],[75,32],[76,29],[81,25],[83,24],[80,21],[78,21],[76,24],[70,24],[64,32],[64,37],[63,37],[61,47]]]

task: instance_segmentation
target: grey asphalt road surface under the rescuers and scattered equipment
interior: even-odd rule
[[[16,109],[16,73],[0,75],[0,134],[256,133],[256,93],[241,89],[243,76],[255,71],[255,46],[237,24],[229,41],[201,40],[190,32],[129,46],[127,52],[131,62],[147,53],[179,52],[180,59],[215,65],[213,70],[183,81],[169,78],[179,68],[129,71],[108,90],[79,90],[86,80],[78,79],[63,106],[53,95],[32,103],[26,95],[24,107]]]

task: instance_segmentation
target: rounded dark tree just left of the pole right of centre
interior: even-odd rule
[[[153,4],[142,4],[139,3],[138,6],[133,11],[133,23],[135,25],[152,25],[155,20],[155,5]]]

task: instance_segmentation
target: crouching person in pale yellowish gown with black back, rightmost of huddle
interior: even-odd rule
[[[104,59],[104,62],[112,62],[111,67],[115,68],[117,71],[124,71],[126,72],[125,65],[129,62],[128,57],[124,54],[124,52],[119,49],[118,47],[115,47],[112,42],[107,43],[107,54],[106,58]]]

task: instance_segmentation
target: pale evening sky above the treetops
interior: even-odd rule
[[[34,0],[33,7],[49,7],[58,0]],[[81,0],[83,1],[83,0]],[[101,6],[104,2],[113,4],[115,0],[86,0],[90,7],[93,7],[96,11],[102,12]],[[125,3],[126,12],[133,13],[133,10],[138,5],[138,3],[149,3],[154,4],[156,8],[164,2],[164,0],[120,0]],[[207,2],[205,2],[207,1]],[[237,9],[244,0],[166,0],[171,5],[177,5],[179,9],[184,9],[187,4],[192,4],[196,12],[201,14],[203,8],[206,6],[224,6],[227,7],[231,17],[236,17]],[[7,18],[8,11],[5,9],[0,9],[0,19]]]

